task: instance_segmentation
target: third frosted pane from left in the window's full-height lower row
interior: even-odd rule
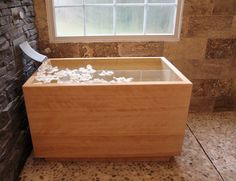
[[[143,11],[142,6],[118,6],[116,8],[116,33],[142,34]]]

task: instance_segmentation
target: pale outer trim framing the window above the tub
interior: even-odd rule
[[[177,0],[177,12],[175,17],[176,24],[174,35],[101,35],[56,37],[53,0],[46,0],[49,40],[51,43],[179,41],[182,26],[183,5],[184,0]]]

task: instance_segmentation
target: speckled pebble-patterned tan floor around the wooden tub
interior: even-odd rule
[[[190,114],[182,155],[169,162],[60,162],[30,156],[20,180],[235,181],[236,113]]]

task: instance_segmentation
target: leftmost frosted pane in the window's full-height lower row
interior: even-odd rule
[[[81,36],[83,28],[83,9],[55,8],[56,32],[57,36]]]

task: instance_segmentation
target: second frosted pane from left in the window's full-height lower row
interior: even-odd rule
[[[113,8],[103,6],[86,7],[86,34],[112,34]]]

